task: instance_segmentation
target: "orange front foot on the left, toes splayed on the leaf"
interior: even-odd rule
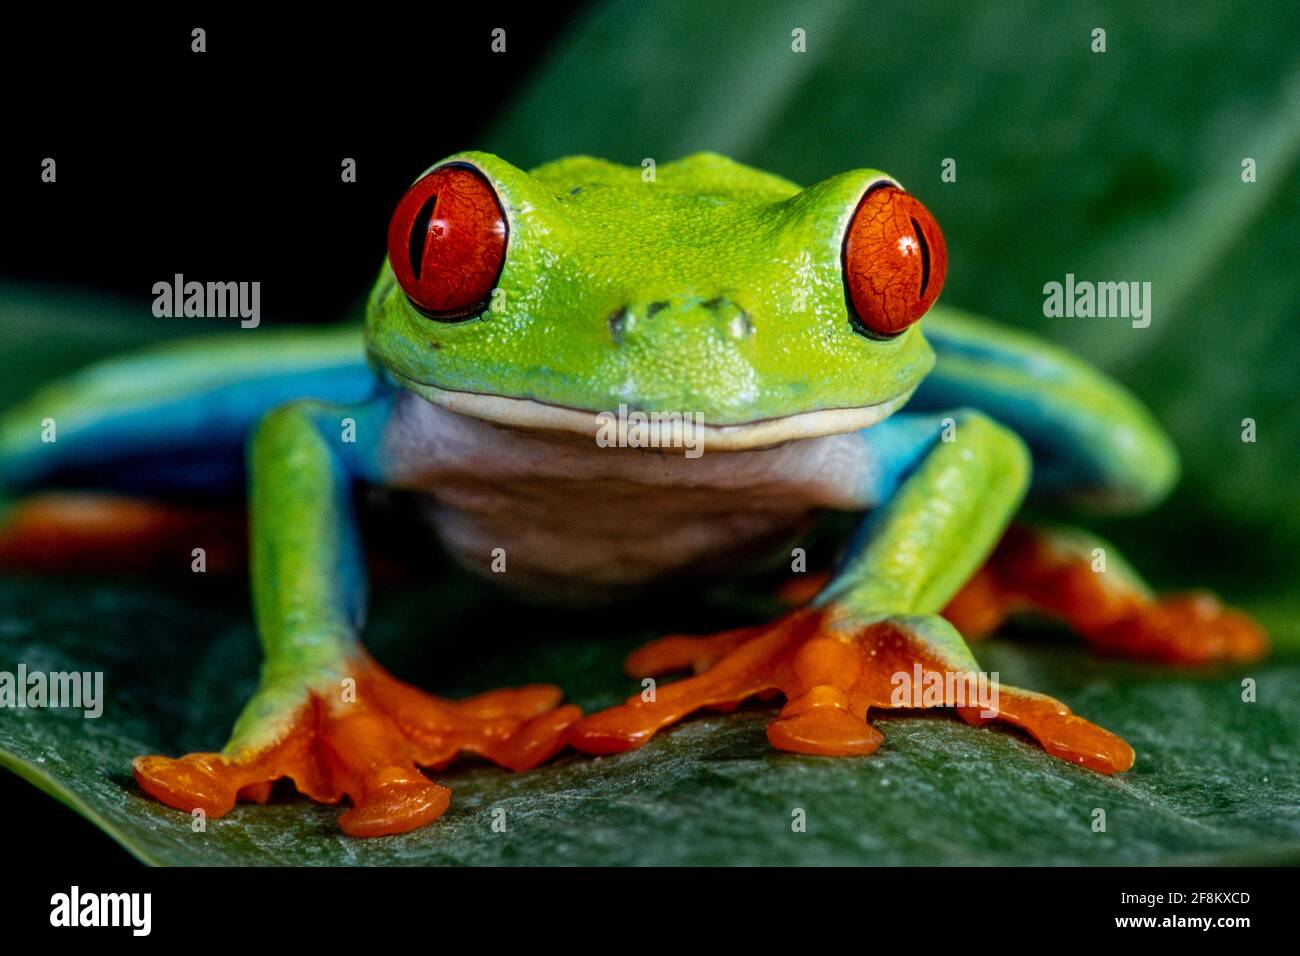
[[[318,803],[344,796],[343,832],[382,836],[424,826],[447,809],[451,792],[420,767],[442,769],[476,753],[511,770],[542,763],[564,745],[575,706],[562,693],[532,685],[450,701],[394,679],[364,654],[350,669],[355,693],[312,691],[273,743],[235,753],[138,757],[146,793],[179,810],[221,817],[237,800],[264,803],[270,784],[290,778]]]

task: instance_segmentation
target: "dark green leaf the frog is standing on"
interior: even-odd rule
[[[538,770],[451,769],[451,809],[410,834],[356,840],[339,808],[283,793],[207,831],[140,795],[130,760],[220,747],[252,689],[257,645],[231,581],[143,587],[0,583],[0,669],[104,671],[103,717],[21,710],[0,722],[0,763],[62,799],[148,862],[169,864],[1150,864],[1300,861],[1300,662],[1193,676],[1100,662],[1035,632],[982,648],[1004,679],[1057,695],[1138,750],[1106,778],[1019,736],[926,715],[884,718],[871,757],[776,754],[771,708],[699,717],[616,757],[564,756]],[[384,592],[372,648],[399,676],[464,695],[554,680],[597,708],[637,689],[634,644],[682,618],[751,617],[673,602],[676,620],[615,631],[590,615],[528,613],[478,585]],[[436,622],[436,623],[429,623]],[[608,630],[606,633],[604,631]],[[493,636],[488,640],[488,636]],[[415,639],[415,640],[412,640]],[[1044,641],[1046,641],[1044,644]],[[1093,832],[1093,810],[1106,831]],[[491,829],[506,812],[506,831]],[[792,829],[797,809],[806,832]]]

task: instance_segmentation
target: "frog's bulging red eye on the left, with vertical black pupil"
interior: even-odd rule
[[[434,169],[407,190],[389,222],[389,265],[432,319],[484,310],[506,261],[506,213],[473,166]]]

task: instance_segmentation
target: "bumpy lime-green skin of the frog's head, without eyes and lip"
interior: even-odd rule
[[[481,169],[506,209],[503,295],[481,320],[430,323],[385,264],[367,341],[407,380],[725,425],[874,405],[933,364],[915,326],[874,341],[846,320],[844,232],[884,173],[800,190],[712,153],[660,165],[654,182],[586,156],[532,174],[482,152],[443,160],[456,161]],[[611,317],[624,307],[620,343]]]

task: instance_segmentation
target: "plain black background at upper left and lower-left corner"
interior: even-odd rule
[[[0,282],[144,302],[176,272],[239,278],[261,281],[276,323],[337,321],[369,289],[403,190],[476,144],[575,7],[507,16],[439,4],[303,22],[49,14],[5,29]],[[202,55],[190,51],[196,26],[207,30]],[[497,26],[503,55],[490,49]],[[46,156],[55,185],[40,181]],[[356,160],[354,183],[339,178],[344,157]],[[341,302],[339,290],[356,298]],[[6,826],[10,858],[134,865],[6,771],[0,808],[21,821]]]

